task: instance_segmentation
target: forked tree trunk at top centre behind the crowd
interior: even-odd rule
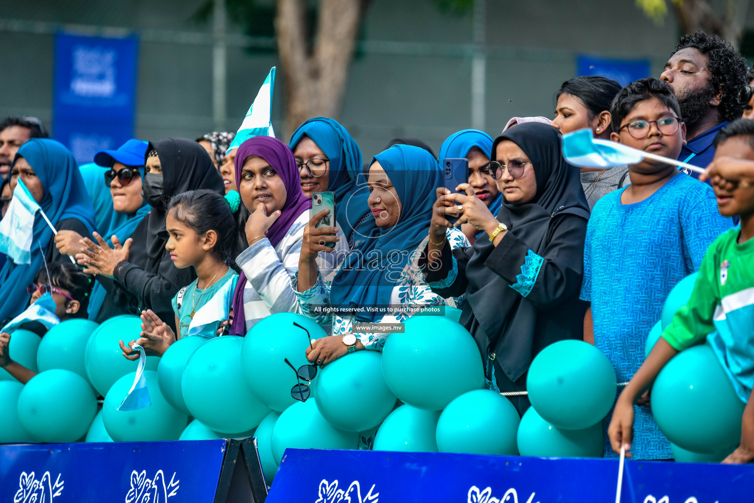
[[[361,0],[320,0],[314,47],[308,48],[305,0],[277,0],[277,47],[285,82],[285,135],[308,118],[336,117],[345,92],[363,11]]]

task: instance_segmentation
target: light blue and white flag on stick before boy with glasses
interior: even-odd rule
[[[643,159],[652,159],[685,170],[704,173],[702,168],[676,159],[650,154],[623,143],[599,140],[593,137],[590,128],[563,135],[563,157],[569,164],[578,167],[618,167],[626,164],[638,164]]]

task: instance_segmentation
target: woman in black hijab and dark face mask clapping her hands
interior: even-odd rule
[[[83,250],[76,258],[87,267],[85,271],[97,275],[108,293],[97,323],[152,309],[176,330],[171,301],[196,276],[194,268],[176,268],[165,250],[167,204],[173,195],[189,190],[210,189],[224,195],[225,187],[207,151],[191,140],[149,143],[145,164],[143,194],[152,210],[139,222],[130,245],[127,241],[123,247],[114,243],[110,248],[95,234],[98,243],[84,240],[91,251]]]

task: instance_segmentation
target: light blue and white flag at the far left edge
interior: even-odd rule
[[[34,217],[41,208],[19,178],[8,211],[0,220],[0,253],[17,264],[32,263]]]

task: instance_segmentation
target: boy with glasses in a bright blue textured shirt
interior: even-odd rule
[[[673,90],[656,78],[624,87],[611,106],[611,140],[676,159],[685,125]],[[697,271],[704,252],[731,227],[712,187],[676,167],[645,160],[628,167],[631,184],[597,201],[584,245],[581,299],[591,302],[584,339],[613,363],[618,382],[644,361],[647,334],[670,290]],[[648,405],[646,401],[643,405]],[[636,413],[635,459],[670,459],[670,443],[648,406]],[[605,455],[615,455],[609,442]]]

